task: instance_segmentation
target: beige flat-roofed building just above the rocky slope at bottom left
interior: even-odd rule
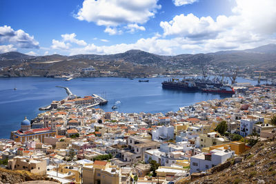
[[[17,156],[8,161],[8,169],[10,170],[25,170],[41,176],[46,174],[46,168],[47,162],[42,159],[25,159]]]

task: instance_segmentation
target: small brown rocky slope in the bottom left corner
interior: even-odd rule
[[[40,181],[53,181],[59,183],[46,176],[37,176],[26,171],[10,171],[0,168],[0,183],[23,183],[25,181],[38,181],[39,183],[41,183]]]

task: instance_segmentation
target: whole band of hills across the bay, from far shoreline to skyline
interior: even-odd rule
[[[92,65],[95,72],[81,73]],[[0,76],[122,76],[144,77],[152,74],[201,73],[202,66],[223,73],[229,68],[239,68],[242,74],[255,70],[276,71],[276,45],[263,45],[249,50],[230,50],[207,54],[179,54],[162,56],[142,50],[128,50],[119,54],[77,54],[63,56],[29,56],[19,52],[0,54]],[[177,74],[177,73],[175,73]]]

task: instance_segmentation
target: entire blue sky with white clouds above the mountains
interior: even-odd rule
[[[177,55],[276,43],[275,0],[1,0],[0,53]]]

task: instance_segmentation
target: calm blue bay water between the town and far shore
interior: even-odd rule
[[[0,78],[0,138],[9,138],[10,132],[19,130],[25,116],[34,119],[39,108],[50,105],[53,100],[64,99],[67,94],[56,85],[70,88],[73,94],[86,96],[105,94],[109,103],[101,106],[110,112],[115,101],[121,101],[119,112],[168,112],[199,101],[223,99],[226,96],[201,92],[181,92],[164,90],[164,78],[149,79],[149,83],[139,83],[139,79],[125,78],[80,78],[64,81],[41,77]],[[238,82],[251,82],[238,79]],[[13,90],[17,88],[17,90]]]

